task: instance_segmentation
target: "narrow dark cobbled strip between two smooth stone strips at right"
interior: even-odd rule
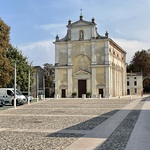
[[[144,102],[139,102],[97,150],[124,150]]]

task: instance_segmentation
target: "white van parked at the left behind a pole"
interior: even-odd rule
[[[0,88],[0,98],[5,101],[5,104],[14,105],[14,88]],[[16,89],[16,104],[22,105],[26,102],[26,97]]]

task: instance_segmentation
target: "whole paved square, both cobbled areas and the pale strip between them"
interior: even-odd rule
[[[48,99],[1,110],[0,150],[123,150],[144,103],[140,97]],[[120,147],[113,144],[118,134]]]

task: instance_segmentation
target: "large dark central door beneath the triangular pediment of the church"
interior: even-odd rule
[[[78,80],[78,97],[86,94],[86,80]]]

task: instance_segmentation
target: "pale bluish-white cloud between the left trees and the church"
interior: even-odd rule
[[[25,56],[28,57],[30,62],[35,66],[43,66],[44,63],[54,64],[55,49],[51,40],[39,41],[26,45],[20,45]]]

